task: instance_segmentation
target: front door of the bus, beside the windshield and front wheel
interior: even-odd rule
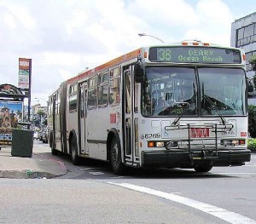
[[[125,80],[125,164],[137,166],[138,158],[138,83],[134,82],[131,67],[124,72]]]

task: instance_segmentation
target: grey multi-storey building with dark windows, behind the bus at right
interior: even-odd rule
[[[255,72],[248,60],[256,55],[256,12],[232,23],[230,42],[232,47],[244,49],[247,58],[247,77],[253,78]]]

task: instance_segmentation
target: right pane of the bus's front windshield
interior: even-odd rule
[[[202,115],[245,115],[245,73],[242,69],[199,68]]]

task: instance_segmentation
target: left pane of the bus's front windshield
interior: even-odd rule
[[[148,67],[143,83],[144,116],[196,115],[195,70]]]

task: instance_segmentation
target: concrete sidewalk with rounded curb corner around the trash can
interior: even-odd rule
[[[34,144],[32,158],[13,157],[11,146],[2,146],[0,150],[0,178],[53,178],[67,174],[62,162],[49,158],[49,147]]]

